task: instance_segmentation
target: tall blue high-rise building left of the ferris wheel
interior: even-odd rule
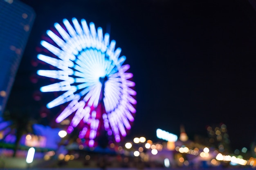
[[[35,18],[18,0],[0,0],[0,116],[4,111]]]

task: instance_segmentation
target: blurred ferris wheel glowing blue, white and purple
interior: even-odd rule
[[[72,118],[67,132],[79,125],[79,138],[88,139],[89,146],[95,145],[101,127],[120,142],[131,128],[137,104],[133,74],[127,72],[130,65],[123,65],[126,57],[120,57],[121,48],[115,49],[116,41],[110,41],[108,33],[103,35],[101,27],[96,30],[94,23],[88,25],[84,19],[64,19],[46,33],[50,39],[40,44],[49,53],[37,58],[54,70],[37,74],[58,80],[40,88],[41,92],[60,92],[47,108],[66,104],[55,121]]]

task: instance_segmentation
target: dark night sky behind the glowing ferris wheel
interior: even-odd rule
[[[36,49],[63,18],[84,18],[117,41],[134,74],[137,113],[128,137],[157,128],[190,138],[224,123],[233,149],[256,136],[256,12],[246,0],[22,0],[36,12],[7,109],[39,115]],[[32,62],[31,62],[32,61]],[[18,102],[19,101],[19,102]],[[57,109],[61,109],[58,107]],[[54,110],[50,111],[54,114]]]

